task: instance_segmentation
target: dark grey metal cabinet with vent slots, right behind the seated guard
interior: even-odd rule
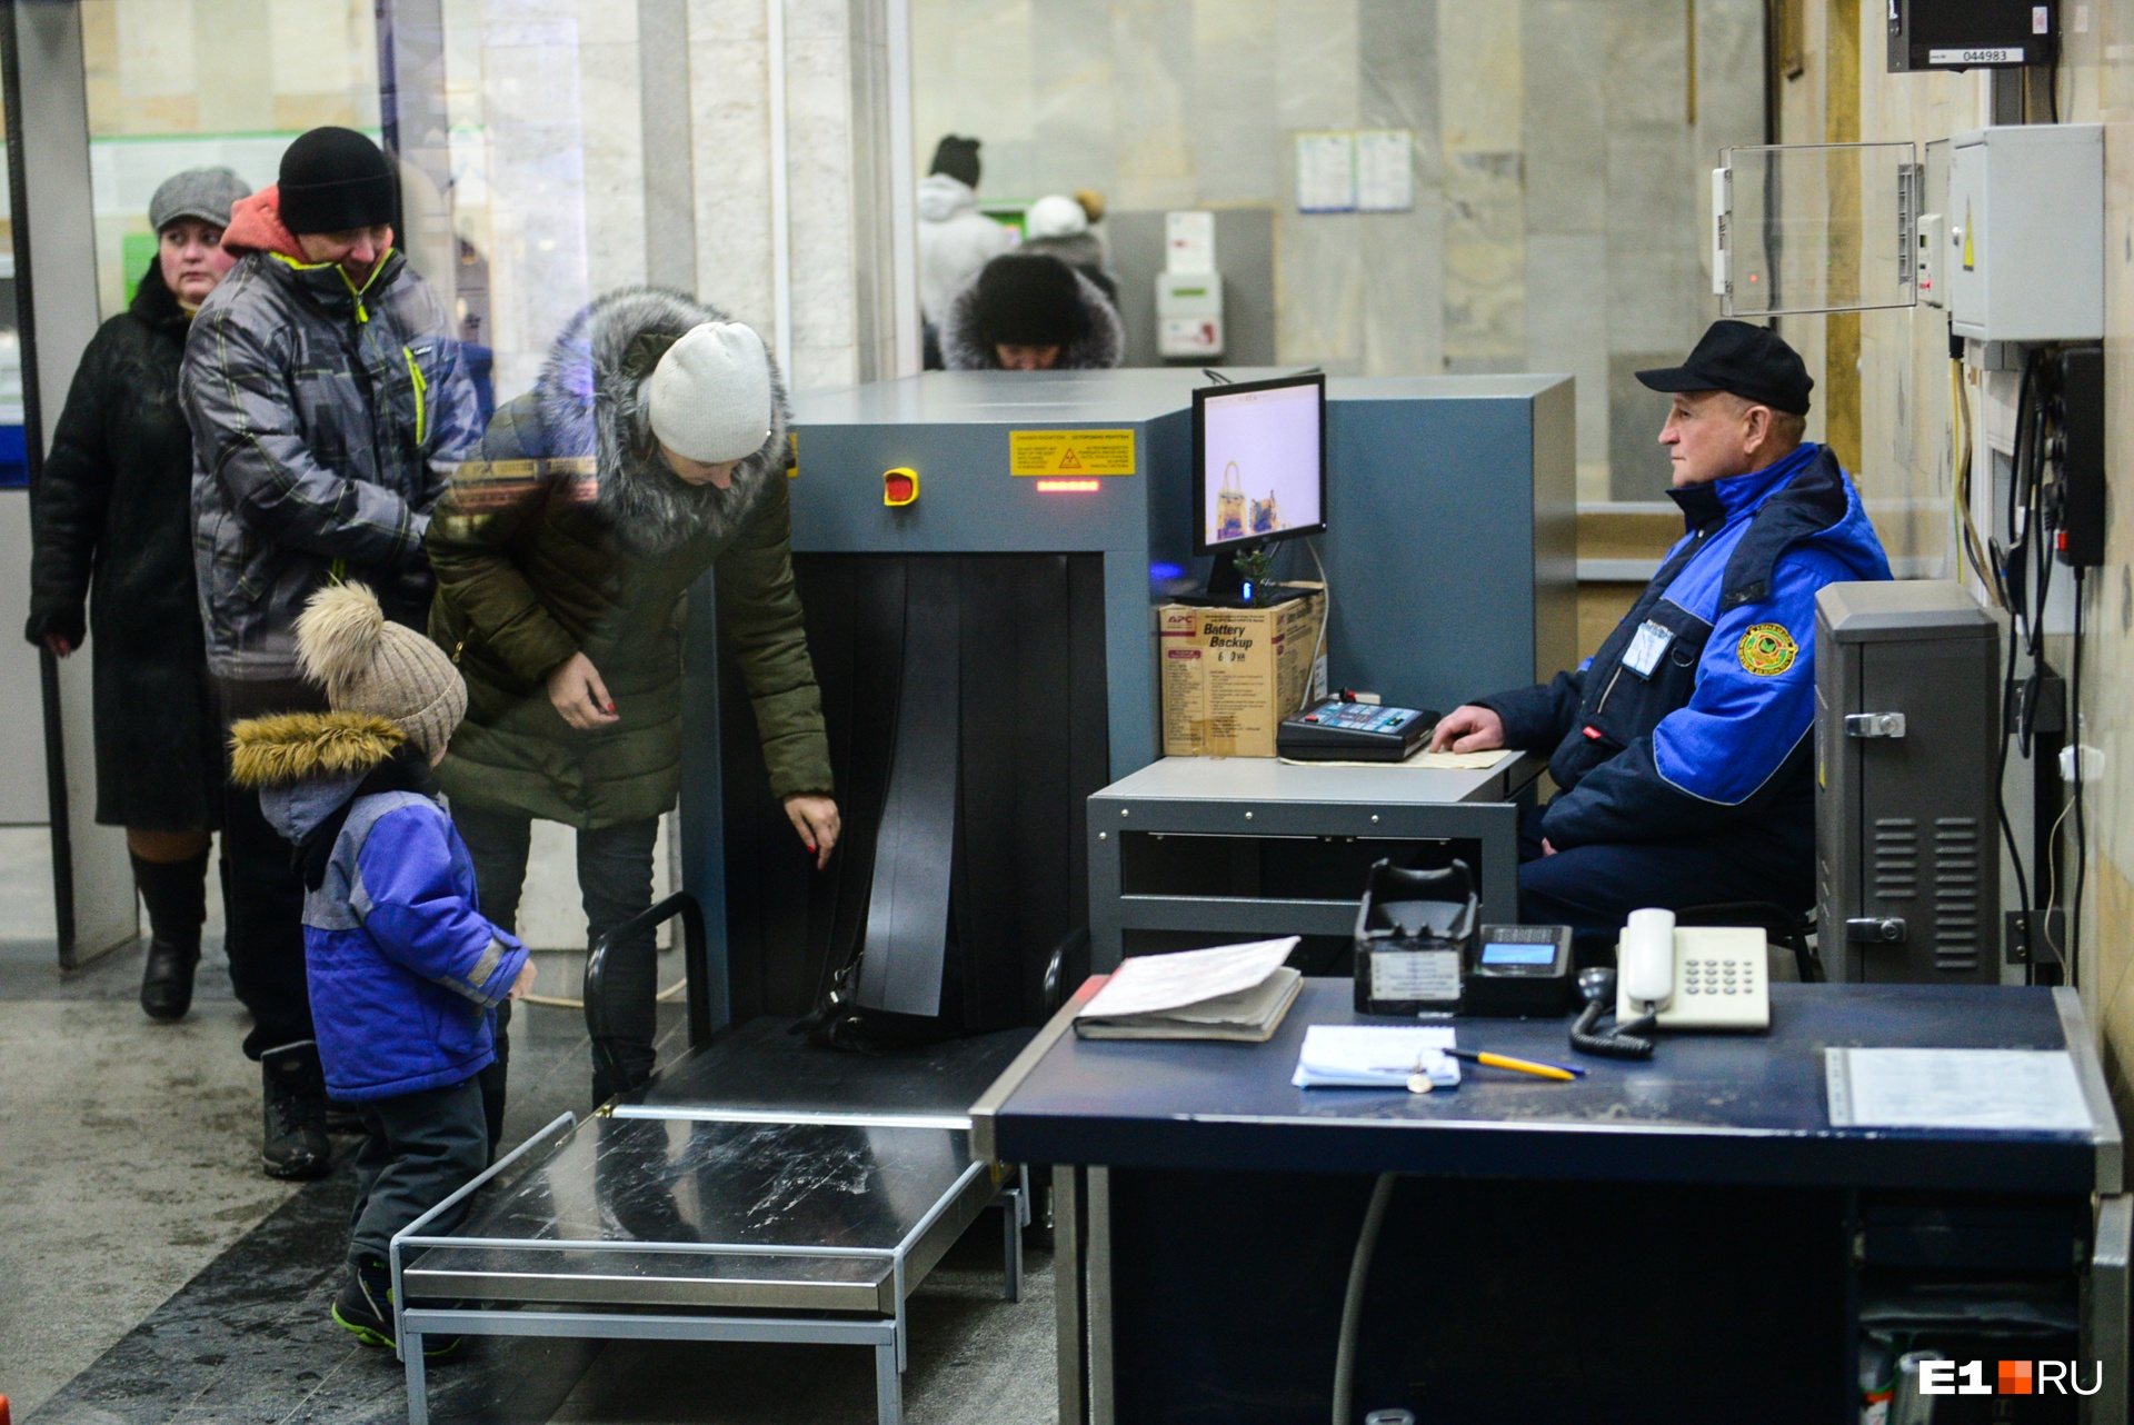
[[[1816,595],[1816,932],[1835,979],[2000,983],[2000,625],[1959,585]]]

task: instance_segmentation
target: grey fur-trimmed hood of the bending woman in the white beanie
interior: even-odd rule
[[[785,471],[785,380],[768,352],[770,435],[734,469],[732,489],[685,484],[659,459],[647,414],[653,367],[691,326],[732,320],[668,288],[619,288],[578,311],[548,348],[534,386],[548,452],[593,457],[593,508],[632,555],[732,535]]]

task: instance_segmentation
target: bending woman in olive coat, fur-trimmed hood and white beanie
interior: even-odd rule
[[[536,817],[578,832],[593,941],[651,907],[653,838],[681,789],[681,604],[704,570],[770,791],[828,862],[839,815],[787,463],[762,339],[679,292],[623,288],[572,318],[437,503],[429,631],[469,695],[440,779],[499,924],[519,911]],[[651,1075],[651,932],[610,947],[608,994],[595,1103]],[[489,1084],[501,1116],[501,1062]]]

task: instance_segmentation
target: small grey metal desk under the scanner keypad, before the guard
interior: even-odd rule
[[[1513,922],[1519,907],[1519,804],[1545,762],[1513,753],[1485,772],[1387,766],[1295,766],[1274,757],[1163,757],[1088,798],[1090,968],[1118,968],[1131,930],[1195,934],[1347,936],[1374,851],[1447,843],[1481,879],[1483,915]],[[1201,864],[1159,858],[1142,843],[1193,840]],[[1323,894],[1263,883],[1261,868],[1221,868],[1255,843],[1353,843],[1340,885]],[[1383,847],[1383,851],[1381,851]],[[1268,872],[1278,864],[1268,862]],[[1329,866],[1334,870],[1334,866]],[[1353,883],[1351,883],[1353,881]],[[1210,894],[1221,890],[1225,894]]]

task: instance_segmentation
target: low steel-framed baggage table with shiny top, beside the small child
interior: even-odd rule
[[[672,1139],[683,1152],[664,1152]],[[837,1139],[845,1139],[843,1152]],[[773,1152],[766,1165],[764,1143],[779,1146],[785,1163]],[[425,1231],[544,1146],[546,1158],[499,1199],[484,1201],[459,1231]],[[619,1163],[604,1173],[608,1158]],[[785,1171],[802,1160],[807,1171]],[[662,1175],[664,1167],[676,1171]],[[841,1169],[890,1178],[903,1192],[851,1195],[851,1184],[837,1182]],[[770,1182],[762,1192],[721,1190],[736,1186],[734,1175],[766,1171]],[[726,1182],[704,1186],[706,1175]],[[877,1239],[822,1246],[822,1197],[856,1197],[847,1212],[873,1210],[877,1220],[851,1222],[845,1235]],[[892,1197],[905,1197],[907,1205]],[[1022,1229],[1031,1220],[1029,1178],[973,1160],[969,1118],[630,1105],[627,1114],[580,1126],[574,1114],[563,1114],[393,1239],[408,1421],[429,1423],[423,1338],[455,1333],[871,1346],[877,1421],[898,1425],[909,1357],[905,1303],[990,1203],[1005,1207],[1003,1295],[1016,1301]],[[743,1207],[745,1218],[768,1214],[773,1222],[753,1237],[728,1231],[738,1239],[702,1239],[702,1227],[715,1224],[726,1205]],[[519,1306],[408,1306],[410,1291],[425,1299]],[[681,1310],[644,1310],[662,1306]]]

